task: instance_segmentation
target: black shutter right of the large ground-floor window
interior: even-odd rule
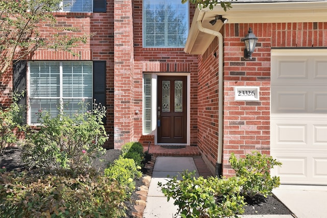
[[[93,61],[93,99],[106,106],[106,61]]]

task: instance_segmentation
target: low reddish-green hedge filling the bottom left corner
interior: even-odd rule
[[[124,217],[126,191],[94,172],[0,174],[0,217]]]

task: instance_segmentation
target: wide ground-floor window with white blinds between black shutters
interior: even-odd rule
[[[92,61],[29,62],[30,123],[38,123],[38,111],[52,115],[78,113],[80,103],[92,103]]]

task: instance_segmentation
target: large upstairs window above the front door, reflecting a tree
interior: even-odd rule
[[[184,47],[189,34],[189,4],[143,1],[143,47]]]

